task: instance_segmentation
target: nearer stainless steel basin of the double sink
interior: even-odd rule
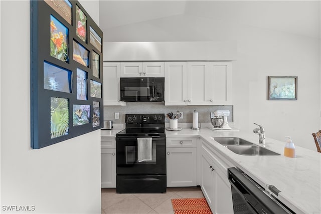
[[[225,145],[225,147],[240,155],[280,155],[274,151],[256,145]]]

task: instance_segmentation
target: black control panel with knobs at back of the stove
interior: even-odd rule
[[[164,123],[165,114],[126,114],[126,124],[128,123]]]

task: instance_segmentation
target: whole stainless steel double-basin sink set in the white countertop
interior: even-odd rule
[[[212,139],[240,155],[280,155],[238,137],[212,137]]]

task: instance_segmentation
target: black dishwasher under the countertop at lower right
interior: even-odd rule
[[[268,195],[262,186],[241,170],[232,167],[228,168],[227,173],[231,183],[234,214],[295,213],[273,195]],[[276,189],[275,193],[278,192]]]

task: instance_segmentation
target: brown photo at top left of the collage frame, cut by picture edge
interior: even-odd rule
[[[70,25],[72,5],[68,0],[45,0],[45,2],[54,9],[62,18],[64,18]]]

